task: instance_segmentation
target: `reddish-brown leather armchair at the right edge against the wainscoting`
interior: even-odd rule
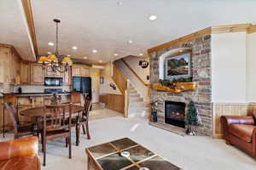
[[[256,121],[253,116],[221,116],[226,144],[256,156]]]

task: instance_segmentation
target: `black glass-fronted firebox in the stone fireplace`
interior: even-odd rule
[[[177,127],[185,127],[185,108],[183,102],[165,101],[165,122]]]

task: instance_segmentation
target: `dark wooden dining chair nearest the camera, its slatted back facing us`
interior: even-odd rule
[[[68,111],[66,111],[68,110]],[[67,114],[68,112],[68,114]],[[44,162],[46,165],[46,144],[47,141],[56,138],[66,138],[66,146],[69,148],[69,158],[71,153],[71,117],[72,104],[67,105],[45,105],[44,106],[44,125],[42,132]]]

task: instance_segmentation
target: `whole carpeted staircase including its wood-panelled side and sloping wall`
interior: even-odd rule
[[[125,96],[125,116],[148,120],[151,113],[148,87],[121,59],[113,63],[113,81]]]

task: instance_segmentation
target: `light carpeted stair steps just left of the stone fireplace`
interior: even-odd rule
[[[140,94],[130,83],[128,117],[148,119],[151,112],[149,102],[143,101]]]

